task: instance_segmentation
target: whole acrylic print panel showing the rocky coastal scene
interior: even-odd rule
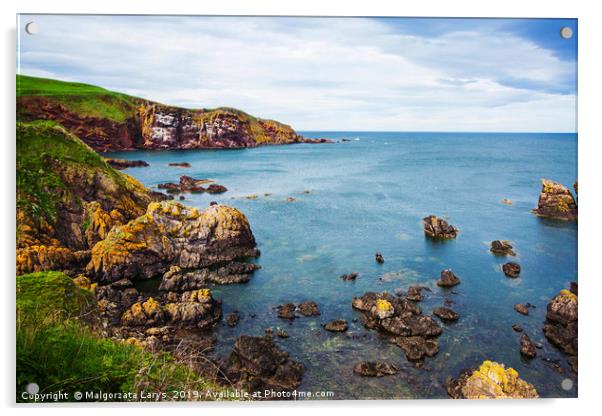
[[[20,15],[16,400],[576,397],[576,38]]]

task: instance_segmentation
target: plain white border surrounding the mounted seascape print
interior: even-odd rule
[[[81,415],[82,408],[74,406],[47,406],[43,409],[15,408],[14,402],[14,189],[15,189],[15,22],[16,13],[104,13],[104,14],[234,14],[234,15],[336,15],[336,16],[440,16],[440,17],[564,17],[579,19],[579,273],[580,286],[580,373],[579,399],[537,400],[513,402],[458,402],[439,401],[345,401],[345,402],[305,402],[305,403],[259,403],[259,404],[184,404],[174,405],[134,405],[130,412],[164,414],[166,412],[199,412],[210,414],[306,414],[318,408],[330,412],[355,414],[377,412],[393,414],[399,412],[437,412],[455,414],[497,415],[519,412],[545,412],[546,414],[577,414],[591,410],[600,396],[602,378],[600,359],[595,351],[599,348],[599,312],[596,309],[602,273],[596,269],[596,256],[600,245],[600,219],[597,211],[602,207],[600,184],[600,129],[601,110],[598,104],[600,88],[600,45],[602,39],[602,19],[597,13],[595,2],[565,1],[525,1],[498,0],[495,4],[476,0],[416,0],[394,2],[384,0],[4,0],[2,7],[3,54],[2,91],[0,103],[2,116],[2,180],[0,180],[3,203],[2,211],[2,270],[3,283],[1,307],[4,311],[3,329],[5,336],[1,344],[3,376],[1,378],[2,404],[8,411],[39,413],[51,411],[60,414]],[[585,225],[584,225],[585,224]],[[598,341],[598,342],[597,342]],[[90,405],[86,413],[106,414],[119,405]],[[286,409],[286,410],[285,410]]]

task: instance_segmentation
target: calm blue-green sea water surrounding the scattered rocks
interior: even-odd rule
[[[211,178],[228,187],[222,195],[186,195],[185,203],[205,207],[211,200],[241,209],[261,249],[262,269],[248,284],[216,287],[224,313],[237,310],[236,328],[215,329],[217,354],[225,355],[240,334],[262,335],[268,327],[285,329],[276,339],[306,373],[300,390],[330,390],[335,398],[443,398],[443,383],[462,368],[491,359],[516,368],[541,396],[575,396],[576,377],[542,332],[547,301],[577,278],[577,227],[534,216],[542,177],[571,185],[577,177],[577,137],[573,134],[355,133],[306,132],[309,137],[351,139],[322,145],[291,145],[228,151],[135,151],[112,157],[143,159],[147,168],[127,173],[154,187],[177,182],[182,174]],[[168,167],[189,162],[191,168]],[[309,193],[306,193],[308,192]],[[250,194],[257,199],[244,199]],[[270,194],[264,196],[264,194]],[[286,202],[287,197],[295,202]],[[500,201],[509,198],[513,205]],[[455,241],[425,239],[420,220],[444,216],[460,229]],[[506,278],[505,258],[488,251],[491,240],[511,240],[522,266],[521,277]],[[382,252],[385,263],[374,261]],[[508,260],[506,260],[508,261]],[[435,280],[444,268],[462,279],[457,294]],[[339,279],[360,273],[355,282]],[[425,314],[445,299],[460,320],[444,325],[439,354],[421,369],[401,349],[364,329],[351,299],[364,292],[432,288],[421,303]],[[315,300],[317,318],[292,324],[273,309],[285,302]],[[529,316],[515,303],[536,305]],[[251,318],[250,314],[256,314]],[[345,334],[321,324],[343,318]],[[520,324],[535,342],[538,357],[525,361]],[[541,357],[560,359],[564,373]],[[402,369],[379,379],[353,375],[360,360],[386,360]],[[575,387],[561,388],[570,378]]]

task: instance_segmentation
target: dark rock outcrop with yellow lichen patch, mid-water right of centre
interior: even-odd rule
[[[410,361],[432,357],[438,350],[433,339],[441,335],[441,327],[430,316],[422,315],[418,306],[405,298],[387,292],[366,292],[353,298],[352,306],[362,312],[362,323],[389,336],[403,349]]]

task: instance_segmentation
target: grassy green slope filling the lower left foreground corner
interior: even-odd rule
[[[39,393],[61,390],[68,400],[76,391],[224,392],[168,353],[97,337],[83,323],[94,308],[92,293],[63,273],[17,277],[17,401],[32,382]]]

